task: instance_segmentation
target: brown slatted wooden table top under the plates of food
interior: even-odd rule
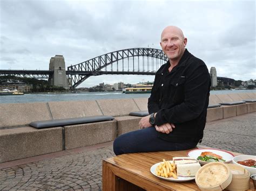
[[[209,147],[200,147],[209,148]],[[194,149],[194,148],[193,148]],[[144,189],[148,188],[149,185],[160,186],[163,189],[169,190],[200,190],[194,180],[186,182],[172,182],[154,176],[150,172],[152,165],[165,160],[172,160],[173,157],[187,157],[186,151],[166,151],[166,152],[149,152],[149,153],[132,153],[132,154],[122,154],[116,157],[105,159],[107,164],[116,168],[116,174],[122,174],[122,176],[127,176],[126,179],[135,185],[138,185]],[[240,153],[231,152],[234,155],[240,155]],[[132,178],[131,178],[132,177]],[[253,183],[250,182],[251,189],[253,189]],[[151,187],[152,188],[152,187]]]

